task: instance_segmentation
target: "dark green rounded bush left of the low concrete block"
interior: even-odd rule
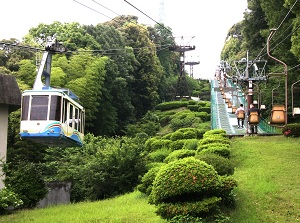
[[[23,208],[34,208],[48,193],[40,168],[30,162],[8,163],[5,168],[7,189],[18,194]]]

